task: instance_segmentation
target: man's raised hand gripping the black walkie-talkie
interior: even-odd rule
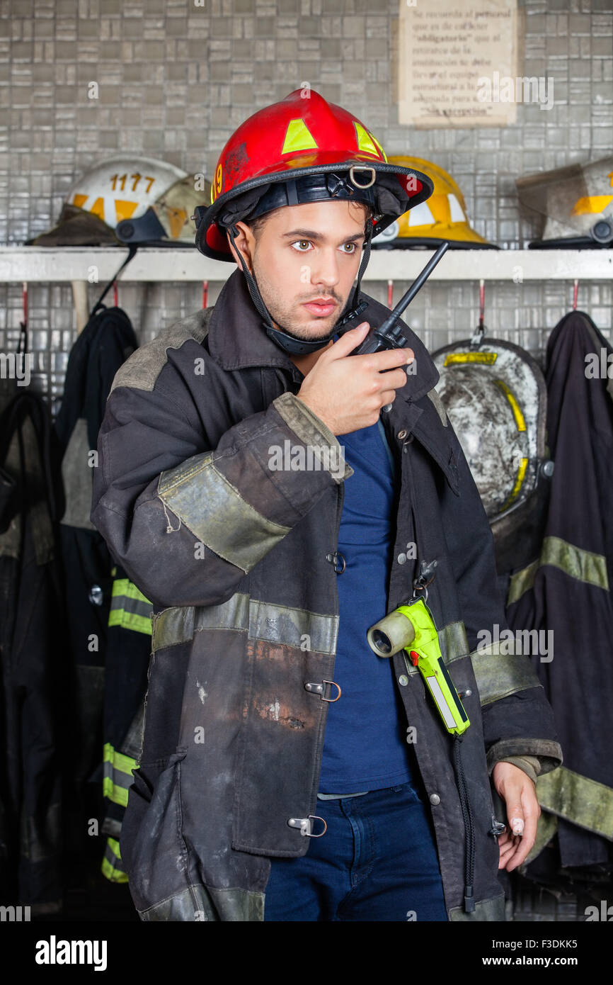
[[[376,424],[381,408],[393,403],[397,389],[406,383],[404,367],[415,358],[412,349],[349,357],[364,341],[368,329],[364,321],[326,349],[296,394],[333,434],[348,434]],[[389,372],[383,371],[386,369]]]

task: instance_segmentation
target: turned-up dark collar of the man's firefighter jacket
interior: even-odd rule
[[[370,325],[381,325],[389,309],[374,297],[360,293],[360,299],[368,301],[361,320]],[[402,334],[415,354],[416,372],[407,373],[406,383],[399,388],[397,397],[407,402],[419,400],[439,381],[439,372],[428,350],[415,333],[399,319]],[[222,369],[244,369],[248,366],[279,366],[291,372],[296,380],[302,373],[289,359],[287,353],[266,334],[262,318],[249,294],[244,274],[234,270],[223,285],[215,302],[209,322],[209,352]]]

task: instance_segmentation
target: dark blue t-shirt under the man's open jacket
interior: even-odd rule
[[[378,657],[366,631],[388,611],[396,522],[392,452],[381,422],[337,434],[354,475],[344,483],[337,575],[339,624],[335,681],[328,708],[320,793],[379,790],[411,779],[406,721],[394,665]]]

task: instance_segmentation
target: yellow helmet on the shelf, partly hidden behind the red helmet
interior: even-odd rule
[[[498,249],[471,229],[460,188],[451,174],[438,164],[421,158],[388,158],[390,164],[417,168],[433,182],[434,192],[427,202],[414,206],[373,239],[373,247],[435,247],[449,242],[455,249]]]

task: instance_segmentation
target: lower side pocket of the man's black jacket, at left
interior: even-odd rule
[[[119,847],[138,910],[187,883],[188,853],[182,835],[181,763],[186,749],[133,771]]]

